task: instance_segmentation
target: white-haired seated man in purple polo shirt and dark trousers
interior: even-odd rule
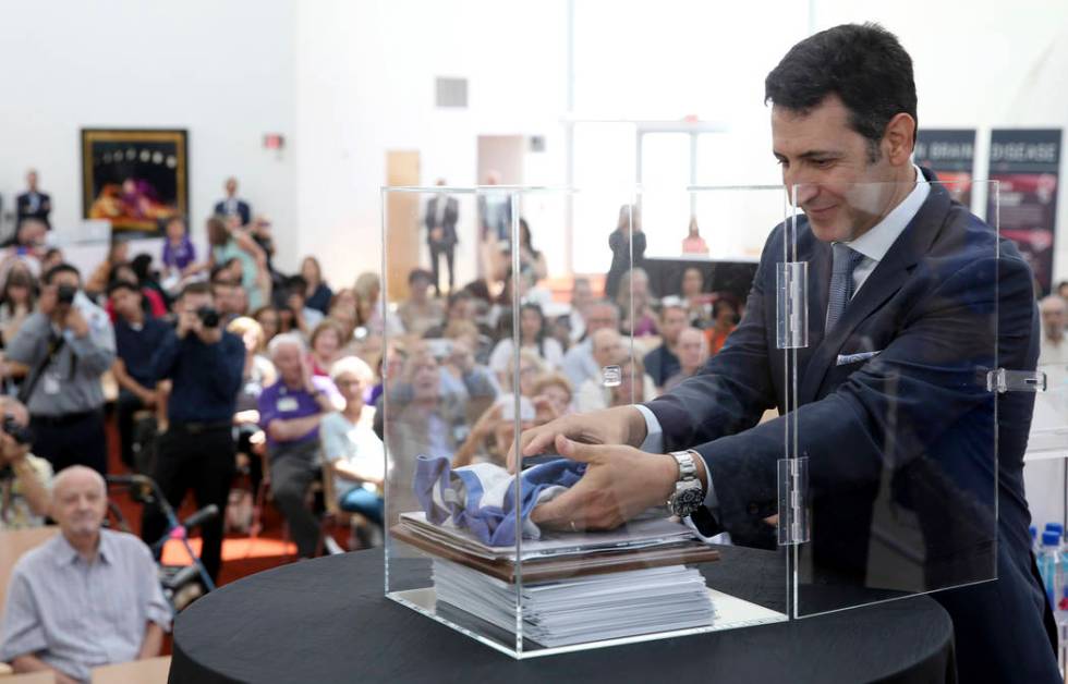
[[[319,525],[305,504],[319,476],[319,423],[344,406],[329,378],[313,376],[304,341],[283,333],[270,341],[278,381],[259,395],[259,427],[267,435],[270,491],[289,523],[301,558],[315,555]]]

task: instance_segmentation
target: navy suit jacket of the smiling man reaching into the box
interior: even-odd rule
[[[696,516],[711,523],[705,532],[721,527],[736,542],[774,546],[763,518],[778,512],[777,462],[786,422],[796,418],[812,515],[811,541],[799,548],[801,611],[996,573],[996,582],[934,595],[954,619],[961,681],[1055,681],[1023,496],[1034,398],[996,395],[984,382],[993,367],[1035,367],[1030,268],[1011,243],[932,185],[825,335],[830,245],[800,217],[810,337],[790,362],[793,406],[788,352],[776,347],[784,241],[779,225],[724,349],[697,376],[646,404],[667,451],[692,448],[707,464],[718,508],[714,518]],[[780,416],[757,425],[767,408]]]

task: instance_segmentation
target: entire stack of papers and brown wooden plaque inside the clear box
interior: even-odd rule
[[[556,532],[494,547],[466,529],[403,513],[390,528],[433,559],[439,609],[459,609],[546,648],[708,626],[716,616],[701,573],[719,559],[666,517],[611,532]]]

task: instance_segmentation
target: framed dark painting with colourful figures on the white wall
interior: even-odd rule
[[[163,234],[189,216],[184,129],[82,129],[82,216],[111,222],[112,236]]]

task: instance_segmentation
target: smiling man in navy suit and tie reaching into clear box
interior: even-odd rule
[[[742,321],[696,376],[644,405],[523,433],[524,455],[555,447],[588,463],[532,520],[610,528],[669,501],[705,536],[774,548],[777,466],[803,456],[812,532],[793,567],[798,614],[945,589],[933,597],[954,621],[960,681],[1058,681],[1023,497],[1033,395],[985,381],[1035,367],[1031,271],[912,164],[912,62],[891,34],[811,36],[765,94],[804,216],[773,231]],[[787,247],[809,265],[796,358],[776,325]],[[760,423],[772,407],[780,416]]]

